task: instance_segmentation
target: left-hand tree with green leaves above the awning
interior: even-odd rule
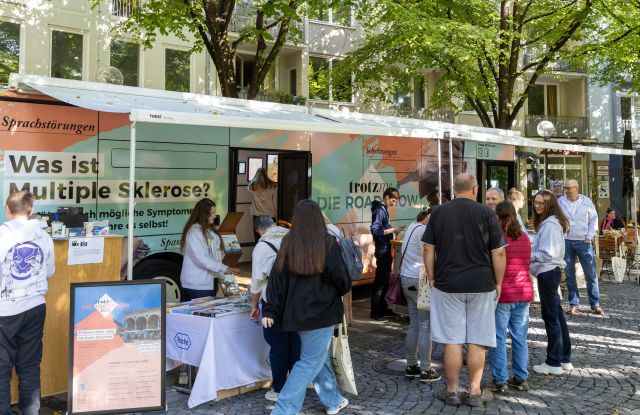
[[[92,0],[97,5],[100,0]],[[215,65],[222,94],[237,97],[235,54],[243,44],[254,46],[247,98],[254,98],[286,42],[303,41],[302,16],[322,6],[351,0],[129,0],[133,13],[117,31],[134,34],[151,48],[160,35],[193,42],[191,52],[206,49]]]

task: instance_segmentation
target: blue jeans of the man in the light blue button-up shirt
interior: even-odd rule
[[[580,260],[584,279],[587,281],[587,296],[591,307],[600,305],[600,288],[598,287],[598,277],[596,276],[596,260],[593,254],[593,246],[584,241],[564,241],[564,262],[567,263],[564,273],[567,277],[567,291],[569,292],[569,304],[578,306],[580,295],[578,293],[578,283],[576,282],[576,256]]]

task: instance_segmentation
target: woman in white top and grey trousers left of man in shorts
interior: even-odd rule
[[[418,284],[420,270],[424,266],[422,235],[429,221],[430,211],[422,210],[416,221],[407,228],[402,240],[402,265],[400,281],[409,309],[409,329],[404,340],[407,357],[407,378],[420,378],[421,382],[440,380],[440,374],[431,367],[431,333],[429,333],[429,315],[426,310],[418,310]],[[420,357],[420,361],[418,361]]]

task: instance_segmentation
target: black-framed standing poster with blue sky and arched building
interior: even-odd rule
[[[71,284],[70,414],[165,408],[163,281]]]

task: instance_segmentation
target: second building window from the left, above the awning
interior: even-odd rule
[[[51,32],[51,76],[82,79],[83,36],[78,33]]]

